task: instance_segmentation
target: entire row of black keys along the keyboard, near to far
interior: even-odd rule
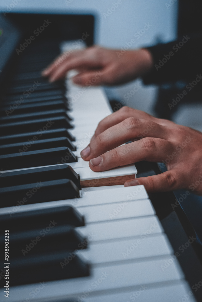
[[[1,229],[9,230],[11,286],[89,275],[88,264],[71,254],[87,247],[82,247],[85,238],[75,230],[84,225],[77,210],[71,206],[18,210],[21,205],[79,197],[78,175],[67,164],[56,165],[62,157],[66,162],[77,161],[72,153],[74,137],[68,132],[72,126],[65,87],[63,82],[50,84],[40,76],[58,52],[57,47],[53,49],[30,47],[23,53],[1,101],[0,169],[53,165],[1,173],[1,207],[12,206],[9,214],[0,215]],[[35,90],[26,97],[23,92],[34,84]],[[1,251],[4,240],[2,234]],[[71,261],[63,267],[65,259]]]

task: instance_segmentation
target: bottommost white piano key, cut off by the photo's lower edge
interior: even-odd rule
[[[176,284],[171,284],[170,282],[168,282],[167,284],[163,284],[164,286],[161,285],[152,288],[149,287],[148,284],[142,284],[139,287],[134,287],[133,290],[119,290],[115,293],[112,292],[110,294],[106,292],[93,295],[86,291],[84,296],[86,296],[86,302],[197,302],[189,285],[185,281],[180,280],[175,281],[175,283]]]

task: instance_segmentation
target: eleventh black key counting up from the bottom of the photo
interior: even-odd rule
[[[54,101],[46,101],[46,102],[35,102],[31,104],[20,104],[17,108],[12,108],[9,105],[0,106],[0,116],[2,117],[10,117],[11,114],[25,114],[25,113],[34,113],[38,111],[50,111],[57,109],[65,109],[68,110],[68,105],[63,100],[54,100]]]

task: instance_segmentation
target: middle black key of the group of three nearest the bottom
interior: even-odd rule
[[[79,235],[72,226],[68,226],[68,224],[58,226],[58,223],[59,220],[52,219],[38,229],[34,228],[22,232],[17,230],[11,232],[9,229],[9,258],[16,259],[23,256],[41,255],[47,251],[67,252],[88,247],[87,239]],[[5,238],[1,236],[1,247],[3,239],[5,242]],[[82,242],[84,243],[83,247]],[[32,243],[33,245],[35,243],[35,246]],[[32,248],[29,247],[30,244],[31,247],[33,246]]]

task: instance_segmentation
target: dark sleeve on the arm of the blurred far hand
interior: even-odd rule
[[[190,81],[202,73],[202,34],[184,35],[176,41],[147,47],[154,65],[143,77],[144,84]]]

